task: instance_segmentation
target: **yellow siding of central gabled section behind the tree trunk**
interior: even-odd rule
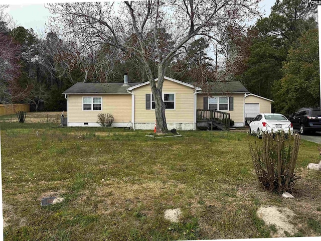
[[[155,110],[146,109],[146,95],[150,85],[133,90],[135,95],[135,123],[154,123]],[[163,93],[175,93],[176,108],[165,111],[167,123],[193,123],[194,89],[173,81],[165,80]]]

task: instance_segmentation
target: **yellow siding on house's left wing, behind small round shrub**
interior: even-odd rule
[[[102,97],[102,110],[82,110],[82,97]],[[97,122],[99,113],[111,113],[114,123],[131,121],[131,94],[69,95],[68,122]]]

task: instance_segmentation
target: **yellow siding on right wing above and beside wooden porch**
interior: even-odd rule
[[[197,109],[204,108],[204,97],[207,94],[198,94],[197,95]],[[222,96],[219,94],[214,94],[213,96]],[[224,112],[230,113],[230,118],[233,119],[235,123],[243,123],[244,122],[244,94],[229,94],[228,96],[233,96],[233,110]]]

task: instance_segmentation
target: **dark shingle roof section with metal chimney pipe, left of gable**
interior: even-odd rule
[[[124,83],[83,83],[78,82],[63,92],[63,94],[98,94],[98,93],[124,93],[128,94],[127,88],[141,84],[141,83],[128,83],[129,86],[122,86]]]

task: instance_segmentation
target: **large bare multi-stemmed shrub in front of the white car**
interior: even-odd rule
[[[287,138],[288,137],[288,138]],[[300,177],[294,173],[300,145],[300,136],[280,133],[263,133],[262,144],[250,145],[256,176],[263,190],[285,192]]]

